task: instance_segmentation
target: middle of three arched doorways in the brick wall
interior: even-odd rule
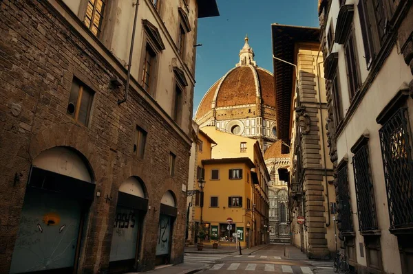
[[[119,187],[109,256],[110,272],[136,270],[142,223],[148,208],[145,193],[143,181],[133,176]]]

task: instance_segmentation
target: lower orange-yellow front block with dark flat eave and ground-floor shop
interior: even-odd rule
[[[255,165],[246,157],[203,160],[202,165],[205,170],[202,224],[209,230],[206,240],[215,235],[221,244],[233,245],[236,233],[241,247],[251,247],[251,169]],[[195,205],[202,203],[200,198],[196,200]],[[232,225],[228,224],[228,218],[233,220]]]

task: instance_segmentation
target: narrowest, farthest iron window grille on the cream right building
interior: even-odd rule
[[[337,173],[337,184],[339,190],[339,222],[342,232],[352,232],[350,197],[348,196],[347,165],[339,169]]]

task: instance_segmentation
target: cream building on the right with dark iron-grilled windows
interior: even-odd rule
[[[413,272],[412,20],[412,1],[319,1],[337,225],[357,273]]]

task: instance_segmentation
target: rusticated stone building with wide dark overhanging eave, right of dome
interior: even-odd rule
[[[308,258],[329,258],[336,251],[330,210],[335,192],[332,163],[326,161],[327,104],[319,29],[273,24],[272,33],[277,135],[291,163],[289,172],[279,169],[279,176],[289,186],[292,242]],[[304,217],[304,223],[298,217]]]

